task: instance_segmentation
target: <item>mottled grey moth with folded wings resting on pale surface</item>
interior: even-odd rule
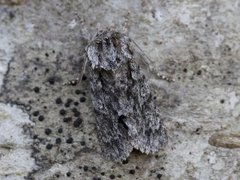
[[[86,47],[91,96],[103,155],[126,159],[133,148],[155,153],[167,142],[147,79],[129,37],[103,31]]]

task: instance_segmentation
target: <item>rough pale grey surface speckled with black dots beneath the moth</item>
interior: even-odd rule
[[[0,135],[26,136],[14,146],[1,138],[1,179],[240,179],[239,8],[238,0],[1,5],[0,123],[12,124]],[[153,73],[175,79],[151,79],[170,119],[167,147],[153,156],[134,151],[122,164],[100,155],[88,79],[62,85],[78,76],[84,47],[106,27],[134,39]],[[28,166],[19,168],[18,156]]]

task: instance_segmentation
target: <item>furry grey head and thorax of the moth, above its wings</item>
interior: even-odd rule
[[[86,47],[93,69],[116,70],[132,59],[130,38],[116,31],[102,31]]]

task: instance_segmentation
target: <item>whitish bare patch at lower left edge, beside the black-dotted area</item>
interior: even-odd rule
[[[22,129],[26,124],[32,123],[22,110],[0,104],[0,179],[6,175],[23,178],[36,167],[31,157],[32,141]]]

